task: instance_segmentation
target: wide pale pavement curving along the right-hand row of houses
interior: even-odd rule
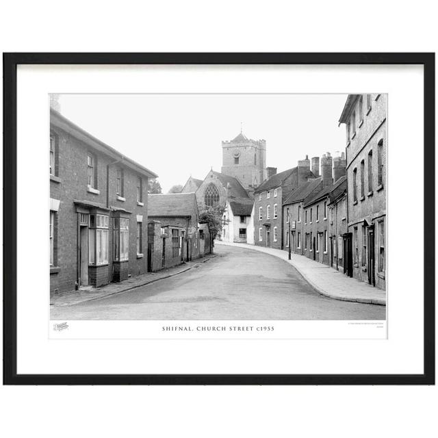
[[[386,305],[386,291],[373,287],[368,283],[352,279],[337,271],[330,266],[308,259],[303,255],[293,254],[291,260],[288,260],[288,253],[285,250],[266,248],[264,246],[238,244],[231,242],[216,241],[215,245],[236,246],[239,248],[248,248],[261,253],[279,257],[279,259],[290,263],[304,279],[309,282],[320,294],[335,298],[336,300],[363,302],[366,304]]]

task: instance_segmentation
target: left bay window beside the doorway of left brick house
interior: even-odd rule
[[[90,229],[88,229],[88,249],[90,265],[108,263],[108,221],[104,214],[90,215]]]

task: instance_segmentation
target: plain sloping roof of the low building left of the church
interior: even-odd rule
[[[148,216],[192,216],[197,211],[194,193],[148,194]]]

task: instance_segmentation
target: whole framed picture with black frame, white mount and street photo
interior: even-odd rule
[[[435,383],[435,54],[5,53],[5,384]]]

